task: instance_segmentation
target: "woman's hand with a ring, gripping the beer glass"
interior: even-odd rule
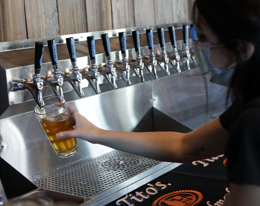
[[[73,112],[75,107],[68,104],[69,112]],[[72,114],[72,118],[75,121],[75,129],[71,131],[64,131],[56,134],[57,138],[81,138],[91,143],[97,143],[97,137],[100,136],[102,129],[96,127],[94,124],[89,122],[79,112],[75,111]]]

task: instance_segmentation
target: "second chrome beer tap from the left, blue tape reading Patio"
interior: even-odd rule
[[[63,96],[62,85],[64,79],[58,68],[58,55],[57,55],[57,47],[55,44],[55,40],[54,39],[48,40],[47,44],[49,48],[49,54],[52,63],[52,68],[53,68],[52,74],[54,78],[51,78],[49,76],[42,76],[41,78],[44,81],[44,86],[48,85],[55,93],[55,95]]]

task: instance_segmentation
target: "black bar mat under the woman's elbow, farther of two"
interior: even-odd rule
[[[216,160],[216,158],[219,158]],[[211,176],[227,179],[225,166],[226,157],[215,157],[191,163],[185,163],[174,168],[173,172],[180,172],[192,175]]]

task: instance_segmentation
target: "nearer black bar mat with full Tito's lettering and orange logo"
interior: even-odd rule
[[[227,192],[226,180],[168,172],[106,206],[223,205]]]

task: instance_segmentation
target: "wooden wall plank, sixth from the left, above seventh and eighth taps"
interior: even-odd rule
[[[151,0],[134,0],[135,26],[155,25],[154,2]]]

